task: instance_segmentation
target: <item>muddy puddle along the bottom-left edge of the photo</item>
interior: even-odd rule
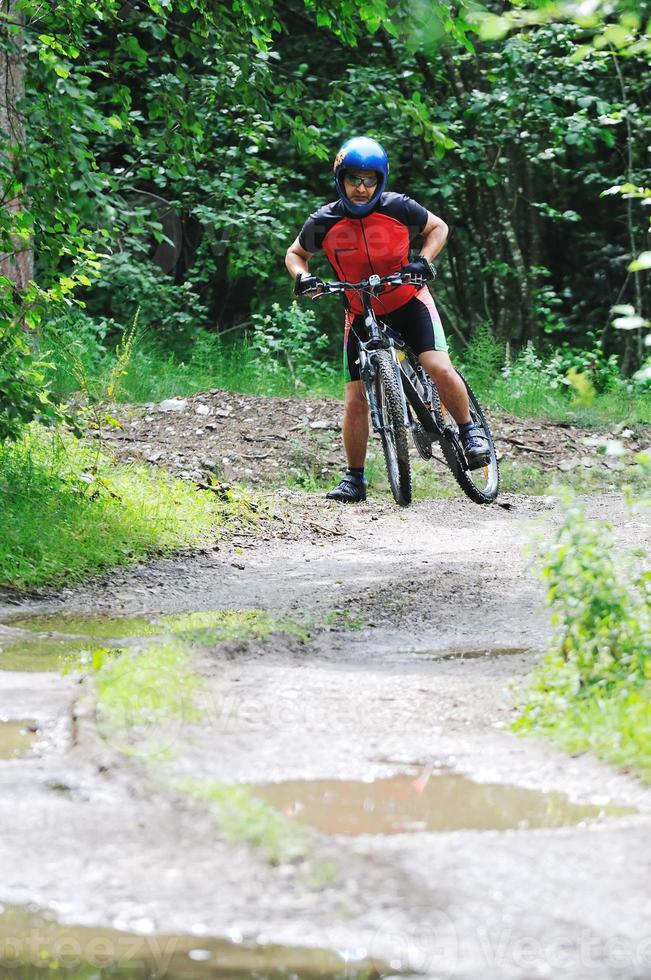
[[[2,978],[370,980],[392,972],[387,964],[367,958],[367,951],[361,948],[335,951],[278,946],[263,936],[251,943],[236,929],[229,939],[215,939],[205,935],[201,924],[188,935],[157,934],[154,923],[147,919],[133,923],[139,932],[63,926],[38,910],[2,910],[0,906],[0,911]]]

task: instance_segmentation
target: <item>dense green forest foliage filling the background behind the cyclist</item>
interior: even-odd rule
[[[305,0],[298,16],[270,0],[19,6],[24,26],[0,41],[0,61],[25,68],[24,92],[10,93],[22,125],[0,150],[0,255],[33,247],[35,272],[23,292],[0,280],[0,321],[17,338],[0,435],[56,417],[47,354],[25,346],[23,326],[55,357],[66,334],[75,345],[62,324],[95,334],[91,364],[57,368],[62,396],[79,369],[106,368],[100,348],[119,342],[136,309],[170,386],[175,370],[182,385],[199,373],[199,328],[252,315],[271,316],[266,349],[283,363],[264,383],[313,384],[294,369],[302,339],[285,346],[270,309],[287,291],[283,252],[332,196],[328,161],[353,131],[387,145],[393,189],[452,224],[439,290],[464,334],[488,324],[517,350],[549,333],[592,354],[593,331],[606,362],[624,351],[626,374],[639,366],[640,345],[607,316],[628,301],[649,313],[648,253],[631,266],[646,230],[649,81],[640,25],[621,4],[605,20],[597,10],[583,35],[556,4],[497,22],[442,2]],[[480,23],[492,34],[476,40]],[[586,49],[591,32],[607,43]],[[617,193],[600,200],[604,188]],[[137,344],[125,397],[148,363]]]

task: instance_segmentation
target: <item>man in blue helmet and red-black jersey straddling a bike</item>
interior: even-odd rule
[[[341,282],[357,282],[369,275],[401,271],[421,280],[434,277],[431,260],[445,245],[448,228],[422,205],[404,194],[385,191],[389,161],[383,147],[366,136],[347,140],[335,157],[334,179],[338,200],[326,204],[307,219],[290,245],[285,265],[295,280],[295,293],[319,294],[322,281],[310,275],[308,262],[323,249]],[[422,236],[420,254],[409,260],[411,241]],[[348,468],[337,487],[326,496],[342,503],[366,500],[364,463],[368,445],[368,405],[357,363],[357,336],[365,336],[361,301],[346,294],[344,364],[347,383],[343,441]],[[398,333],[436,383],[446,408],[459,426],[471,469],[484,466],[489,444],[482,428],[471,421],[465,386],[452,366],[445,334],[427,286],[388,286],[372,300],[375,313]]]

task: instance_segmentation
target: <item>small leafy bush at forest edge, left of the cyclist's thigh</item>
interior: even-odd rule
[[[295,388],[323,385],[332,378],[335,369],[327,358],[319,356],[329,345],[326,334],[315,324],[313,310],[293,302],[288,309],[278,303],[271,313],[253,317],[255,332],[253,347],[260,354],[261,373],[276,373],[283,367]]]

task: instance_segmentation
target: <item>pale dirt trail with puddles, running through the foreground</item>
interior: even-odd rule
[[[73,724],[74,676],[0,672],[0,717],[35,719],[41,735],[30,757],[0,762],[0,901],[70,923],[363,949],[433,978],[648,978],[651,791],[508,730],[512,684],[550,631],[524,549],[558,523],[555,505],[282,500],[305,536],[240,537],[0,609],[6,637],[17,615],[62,610],[331,621],[307,643],[204,649],[205,723],[173,728],[155,767],[117,756],[91,719]],[[648,541],[618,498],[588,506],[623,543]],[[499,655],[460,656],[488,651]],[[556,828],[318,833],[302,859],[273,867],[165,788],[401,773],[424,785],[441,770],[636,812]]]

